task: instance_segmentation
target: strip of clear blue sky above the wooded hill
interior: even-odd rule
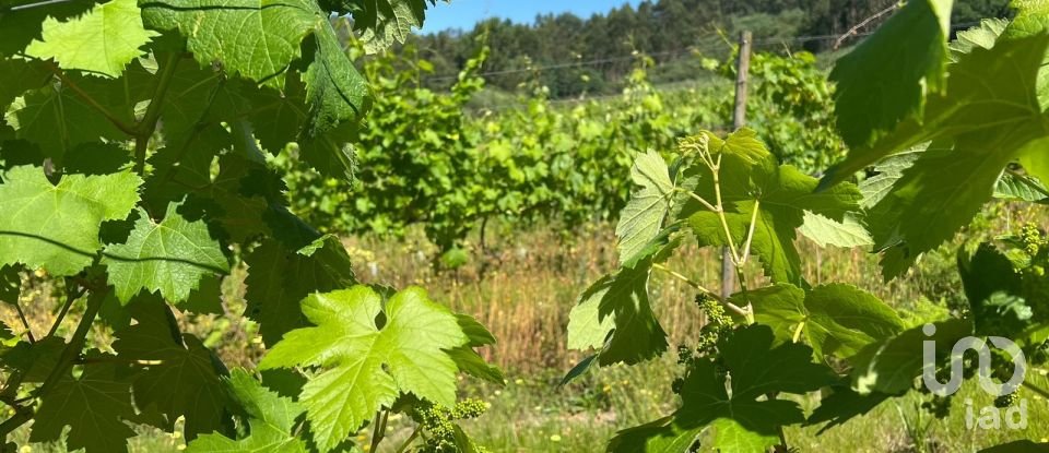
[[[636,7],[640,0],[451,0],[451,4],[438,1],[436,7],[426,10],[423,33],[470,29],[487,17],[506,17],[518,23],[531,23],[537,14],[545,13],[573,12],[589,17],[623,3]]]

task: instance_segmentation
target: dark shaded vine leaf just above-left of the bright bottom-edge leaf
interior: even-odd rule
[[[131,385],[135,405],[157,412],[169,424],[186,418],[186,439],[227,430],[225,367],[196,336],[179,334],[172,312],[158,300],[145,298],[129,306],[138,324],[117,332],[113,348],[134,360],[140,372]]]

